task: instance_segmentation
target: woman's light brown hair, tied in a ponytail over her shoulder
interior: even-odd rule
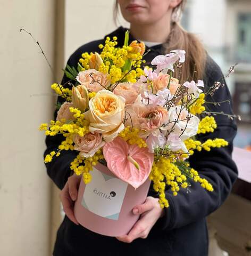
[[[180,14],[185,8],[187,0],[182,2],[173,9],[173,13]],[[119,4],[116,0],[114,5],[114,21],[118,15]],[[177,15],[176,15],[177,16]],[[205,72],[206,51],[203,44],[192,33],[183,29],[178,22],[171,21],[171,31],[166,43],[163,44],[164,52],[169,53],[171,50],[182,49],[186,51],[186,62],[182,66],[182,74],[174,72],[173,76],[180,79],[181,82],[203,79]]]

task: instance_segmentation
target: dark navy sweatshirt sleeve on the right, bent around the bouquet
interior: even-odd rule
[[[206,68],[207,81],[204,82],[207,86],[212,86],[214,82],[220,81],[222,77],[219,66],[212,59],[209,59]],[[225,84],[224,87],[214,93],[213,97],[207,97],[206,101],[220,102],[228,99],[231,100],[231,96]],[[223,111],[232,114],[232,102],[222,103],[221,106],[209,104],[208,109],[212,112]],[[157,221],[156,227],[158,229],[180,228],[204,218],[218,209],[230,194],[232,185],[238,175],[236,164],[231,157],[237,126],[235,121],[227,116],[217,115],[215,120],[217,129],[213,133],[200,135],[198,139],[205,141],[207,139],[223,138],[229,142],[229,145],[222,148],[212,148],[211,151],[195,151],[195,154],[189,158],[190,166],[199,172],[201,178],[207,179],[213,185],[214,191],[209,192],[194,181],[191,181],[190,193],[181,188],[178,195],[173,196],[172,191],[167,190],[165,194],[170,206],[165,208],[164,217]]]

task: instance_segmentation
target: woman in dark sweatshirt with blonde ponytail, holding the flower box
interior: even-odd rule
[[[118,4],[124,19],[130,22],[130,41],[143,41],[146,50],[150,50],[145,56],[146,65],[149,65],[156,55],[174,49],[184,49],[187,52],[187,60],[181,77],[183,81],[203,79],[206,86],[211,86],[221,80],[220,68],[208,57],[202,44],[177,23],[185,1],[119,0],[115,12],[118,10]],[[117,36],[119,46],[122,46],[125,30],[120,27],[108,36]],[[68,65],[77,67],[83,52],[100,52],[98,45],[101,43],[104,43],[104,39],[81,46],[71,55]],[[67,81],[68,78],[64,76],[62,84]],[[220,102],[225,99],[230,99],[227,86],[221,87],[214,93],[213,98],[208,97],[207,101]],[[62,102],[62,99],[59,98],[58,101]],[[232,105],[228,103],[221,106],[211,104],[209,107],[214,112],[232,113]],[[151,187],[146,202],[133,209],[134,214],[140,214],[139,221],[128,235],[122,237],[98,235],[78,225],[74,218],[72,206],[77,197],[80,177],[71,175],[69,166],[76,157],[76,152],[62,152],[53,162],[46,164],[49,177],[62,189],[61,200],[66,213],[57,232],[54,255],[207,255],[205,217],[224,202],[237,179],[236,165],[231,159],[236,124],[223,115],[216,116],[215,119],[218,125],[215,132],[203,135],[200,139],[224,138],[229,142],[229,146],[196,153],[190,157],[191,166],[212,183],[214,192],[208,193],[195,182],[192,183],[191,193],[187,194],[185,190],[181,190],[175,198],[171,191],[167,190],[166,198],[170,207],[162,210],[157,202],[158,196]],[[55,150],[62,139],[61,135],[47,137],[45,155]]]

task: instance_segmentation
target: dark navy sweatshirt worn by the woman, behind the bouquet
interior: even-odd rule
[[[110,37],[117,36],[123,43],[125,29],[120,27],[111,33]],[[130,35],[130,41],[134,38]],[[68,60],[68,65],[77,67],[79,58],[83,52],[100,52],[98,45],[104,43],[104,39],[82,45]],[[121,45],[121,44],[120,44]],[[163,54],[162,45],[149,48],[151,51],[145,56],[146,65],[156,57]],[[148,50],[148,47],[146,47]],[[189,53],[188,53],[189,54]],[[222,71],[216,63],[207,56],[204,83],[211,86],[222,78]],[[66,83],[66,76],[62,84]],[[213,98],[206,100],[220,102],[231,99],[227,85],[217,90]],[[62,98],[58,98],[62,102]],[[232,102],[222,103],[221,106],[208,105],[211,111],[232,114]],[[56,111],[54,118],[56,118]],[[178,196],[173,196],[171,190],[166,191],[166,198],[170,207],[165,209],[165,215],[160,218],[150,231],[146,239],[136,239],[131,244],[118,241],[114,237],[106,237],[89,231],[82,226],[75,225],[67,217],[64,218],[57,231],[54,247],[55,256],[66,255],[182,255],[204,256],[208,251],[208,236],[206,216],[217,210],[228,197],[233,182],[237,179],[237,167],[231,158],[232,142],[235,138],[237,127],[235,121],[227,116],[215,117],[217,129],[214,133],[200,135],[200,140],[209,138],[223,138],[229,142],[228,147],[215,148],[207,152],[205,150],[195,153],[190,157],[190,165],[199,171],[202,178],[210,181],[214,187],[213,192],[208,192],[199,183],[191,182],[191,193],[181,189]],[[54,137],[46,137],[47,149],[44,155],[56,150],[63,137],[61,134]],[[77,156],[76,151],[62,151],[61,155],[46,164],[49,177],[62,189],[71,174],[70,163]],[[150,187],[148,196],[158,197]]]

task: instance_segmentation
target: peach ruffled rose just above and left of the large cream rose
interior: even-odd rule
[[[108,79],[107,75],[97,71],[96,69],[81,71],[76,79],[81,85],[85,85],[86,88],[91,92],[105,90],[111,84],[111,81]]]

